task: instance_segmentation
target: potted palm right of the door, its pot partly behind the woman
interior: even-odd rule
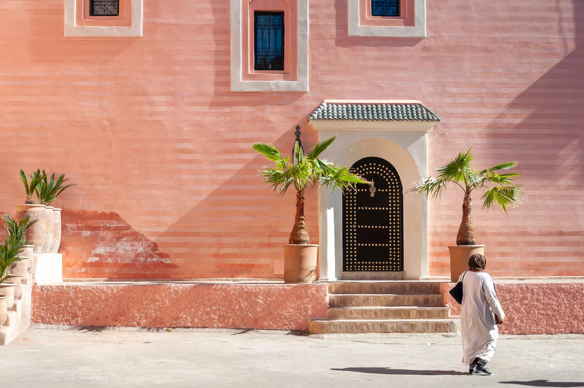
[[[522,203],[525,193],[523,186],[515,183],[519,172],[499,172],[516,167],[517,162],[506,162],[479,170],[474,169],[473,160],[472,150],[461,151],[448,164],[436,168],[436,177],[426,176],[408,190],[409,193],[436,199],[453,184],[463,189],[463,219],[456,235],[456,247],[449,247],[450,276],[453,282],[468,268],[468,258],[475,253],[484,254],[485,250],[485,245],[477,245],[477,234],[472,223],[471,194],[475,190],[482,191],[483,210],[498,207],[507,213],[507,210]]]

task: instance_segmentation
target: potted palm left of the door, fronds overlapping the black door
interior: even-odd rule
[[[359,175],[350,172],[349,167],[339,167],[319,158],[336,136],[319,141],[305,154],[300,142],[300,127],[296,127],[296,141],[291,158],[283,157],[272,144],[253,143],[253,149],[274,163],[259,171],[265,182],[282,196],[294,186],[296,189],[296,216],[290,233],[289,244],[284,245],[284,282],[314,283],[316,281],[318,245],[310,244],[310,237],[304,219],[304,192],[314,186],[335,189],[354,189],[356,183],[368,183]]]

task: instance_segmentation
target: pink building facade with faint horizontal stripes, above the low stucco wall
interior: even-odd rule
[[[519,162],[522,207],[475,198],[488,271],[584,276],[580,2],[404,0],[384,18],[359,0],[124,0],[106,19],[86,3],[0,6],[1,210],[24,200],[20,168],[78,184],[55,202],[64,278],[281,278],[294,198],[263,185],[251,144],[287,150],[297,125],[307,148],[339,134],[335,162],[409,158],[404,189],[469,147],[478,167]],[[283,70],[255,69],[257,11],[284,15]],[[310,119],[325,101],[419,101],[440,121]],[[339,277],[339,200],[308,194],[322,279]],[[409,278],[449,274],[460,216],[455,189],[404,197]]]

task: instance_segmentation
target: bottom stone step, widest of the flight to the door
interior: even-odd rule
[[[409,320],[328,320],[311,318],[308,331],[312,334],[332,333],[454,333],[460,328],[460,321],[453,319],[409,319]]]

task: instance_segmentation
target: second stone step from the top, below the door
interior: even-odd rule
[[[329,306],[444,307],[443,297],[440,294],[331,294],[329,295]]]

